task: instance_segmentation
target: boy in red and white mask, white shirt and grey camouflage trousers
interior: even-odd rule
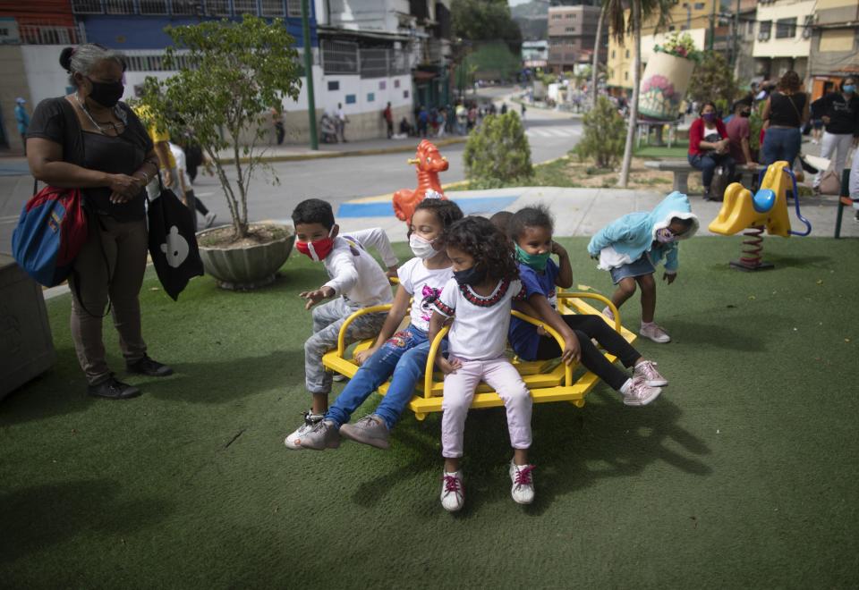
[[[338,235],[340,227],[334,221],[331,206],[319,198],[299,203],[293,210],[293,223],[295,248],[322,262],[329,277],[319,289],[299,294],[307,300],[305,309],[313,308],[313,334],[304,342],[304,380],[313,405],[304,414],[302,426],[286,437],[286,446],[297,450],[301,448],[297,442],[302,435],[310,432],[327,410],[332,375],[322,366],[322,356],[336,347],[340,327],[353,312],[393,299],[385,271],[365,247],[377,249],[391,272],[396,269],[397,259],[386,233],[378,228]],[[333,300],[314,308],[324,299]],[[386,316],[383,311],[359,317],[349,325],[346,343],[376,336]]]

